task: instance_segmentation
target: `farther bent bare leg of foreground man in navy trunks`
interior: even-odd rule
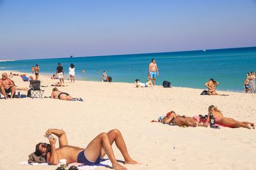
[[[117,148],[120,150],[120,152],[122,153],[122,155],[124,157],[125,164],[138,164],[138,162],[131,159],[131,157],[127,151],[127,148],[126,148],[124,138],[123,138],[121,132],[118,131],[118,129],[113,129],[113,130],[109,131],[108,139],[109,139],[110,145],[112,145],[113,142],[115,141]],[[102,148],[100,157],[104,157],[105,155],[106,155],[106,153],[105,153],[104,149]]]

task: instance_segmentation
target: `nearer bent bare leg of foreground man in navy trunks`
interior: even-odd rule
[[[104,152],[108,155],[109,160],[111,161],[113,165],[113,169],[115,170],[127,170],[126,167],[121,166],[118,164],[115,155],[113,153],[113,150],[111,148],[111,143],[108,139],[108,134],[101,133],[96,138],[94,138],[89,145],[86,147],[84,155],[86,159],[90,161],[95,161],[100,156],[102,148],[104,149]]]

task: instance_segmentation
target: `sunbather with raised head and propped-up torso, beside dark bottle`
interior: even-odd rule
[[[221,111],[218,110],[218,108],[213,105],[209,106],[208,111],[209,111],[209,113],[208,113],[208,117],[206,120],[206,122],[208,122],[208,123],[209,123],[210,113],[212,113],[212,115],[215,118],[216,124],[220,124],[220,125],[224,125],[224,126],[232,127],[232,128],[245,127],[248,129],[255,129],[255,123],[239,122],[237,120],[234,120],[233,118],[223,117],[223,114],[221,113]]]

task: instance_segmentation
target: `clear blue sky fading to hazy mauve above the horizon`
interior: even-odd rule
[[[0,0],[0,60],[245,46],[255,0]]]

